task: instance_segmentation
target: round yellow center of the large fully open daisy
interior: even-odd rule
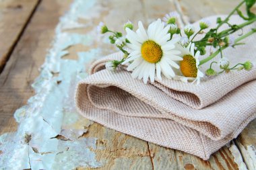
[[[141,46],[141,55],[144,60],[156,63],[162,58],[161,46],[152,40],[148,40]]]

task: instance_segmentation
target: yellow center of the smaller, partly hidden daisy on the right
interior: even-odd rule
[[[183,73],[185,77],[197,77],[197,65],[193,56],[183,56],[183,60],[180,62],[180,67],[181,73]]]

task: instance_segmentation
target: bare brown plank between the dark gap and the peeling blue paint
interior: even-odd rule
[[[20,4],[18,2],[21,1],[15,1],[13,4]],[[22,10],[31,9],[32,1],[25,2],[26,4],[24,4]],[[12,132],[16,129],[17,124],[13,118],[13,113],[34,94],[31,84],[38,77],[38,68],[44,62],[46,49],[51,45],[59,17],[68,9],[70,2],[42,1],[11,54],[11,58],[0,75],[0,134]],[[29,7],[26,7],[26,5]],[[23,18],[26,16],[18,12],[16,12],[16,15],[24,15]],[[50,17],[51,19],[49,19]],[[9,19],[9,22],[16,21],[11,17]],[[11,26],[14,30],[9,30],[9,33],[18,32],[15,26],[20,26],[20,24],[23,23],[18,22],[18,24]],[[8,30],[6,27],[5,29]]]

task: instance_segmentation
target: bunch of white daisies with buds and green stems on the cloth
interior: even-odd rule
[[[243,4],[246,6],[246,15],[240,10]],[[133,78],[143,79],[144,83],[147,83],[149,79],[151,82],[155,79],[161,80],[164,76],[167,79],[176,79],[186,83],[192,81],[197,84],[205,75],[211,77],[223,72],[242,69],[250,71],[253,67],[251,61],[231,66],[229,59],[223,55],[222,51],[243,45],[241,40],[256,32],[255,28],[249,32],[243,32],[236,39],[232,36],[234,32],[243,30],[245,26],[256,21],[255,13],[251,12],[254,4],[255,0],[242,1],[225,19],[218,17],[215,28],[209,29],[210,22],[207,19],[201,19],[197,32],[191,24],[181,30],[177,24],[179,17],[177,12],[166,14],[162,20],[157,19],[148,26],[148,29],[143,26],[142,22],[138,22],[138,29],[134,31],[133,24],[127,22],[124,24],[126,36],[123,36],[121,32],[109,30],[105,24],[100,23],[98,31],[102,34],[110,33],[110,43],[115,44],[123,52],[121,60],[106,62],[106,69],[115,71],[119,65],[125,65],[127,71],[132,72]],[[230,17],[235,13],[245,20],[243,24],[229,23]],[[220,27],[224,24],[227,24],[229,28],[220,31]],[[202,38],[197,38],[197,36]],[[206,54],[208,46],[211,49],[210,55],[199,60],[200,56]],[[220,59],[214,60],[218,54],[221,56]],[[210,60],[212,61],[210,68],[205,72],[200,71],[200,66]],[[214,70],[212,65],[218,65],[220,71]]]

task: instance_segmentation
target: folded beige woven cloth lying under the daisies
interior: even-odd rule
[[[243,54],[255,60],[251,42]],[[234,62],[241,59],[234,50],[225,54],[237,58]],[[121,57],[119,52],[97,60],[92,75],[77,85],[77,110],[86,118],[209,159],[256,117],[256,69],[231,71],[200,85],[168,79],[144,85],[125,69],[104,69],[104,62]]]

